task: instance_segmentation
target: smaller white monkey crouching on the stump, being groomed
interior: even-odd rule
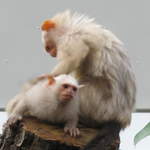
[[[70,75],[49,76],[31,89],[12,99],[6,108],[8,124],[13,124],[29,114],[53,123],[65,123],[64,131],[71,136],[80,134],[77,128],[81,87]]]

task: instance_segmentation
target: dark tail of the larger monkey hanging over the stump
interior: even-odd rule
[[[111,121],[100,127],[97,136],[92,139],[83,150],[118,150],[120,145],[121,125]]]

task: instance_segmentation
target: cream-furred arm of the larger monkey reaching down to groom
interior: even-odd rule
[[[68,74],[78,68],[87,56],[89,47],[80,39],[69,39],[58,47],[58,65],[51,72],[52,76]]]

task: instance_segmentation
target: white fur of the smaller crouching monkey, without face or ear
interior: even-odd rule
[[[9,101],[6,111],[11,118],[19,119],[24,115],[35,116],[41,120],[77,125],[79,101],[76,96],[62,105],[57,95],[63,83],[78,87],[77,81],[70,75],[55,77],[55,83],[48,85],[48,79],[42,80],[30,89]]]

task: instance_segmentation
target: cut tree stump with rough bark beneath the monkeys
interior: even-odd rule
[[[80,131],[81,136],[73,138],[61,127],[26,117],[5,127],[0,137],[0,150],[80,150],[100,132],[91,128],[80,128]],[[118,137],[114,140],[117,141]],[[112,144],[108,150],[117,150],[119,143]]]

